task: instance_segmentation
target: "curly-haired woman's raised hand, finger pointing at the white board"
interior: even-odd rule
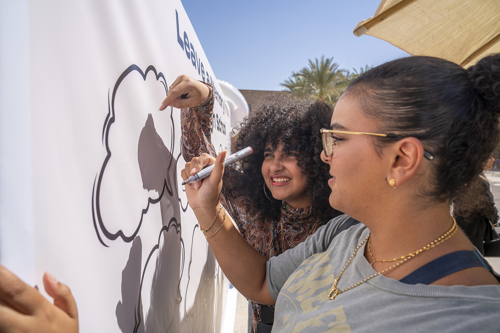
[[[182,74],[173,81],[158,110],[162,111],[167,106],[177,109],[194,107],[203,102],[209,94],[210,88],[206,84]]]

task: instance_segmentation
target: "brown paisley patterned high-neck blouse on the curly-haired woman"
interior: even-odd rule
[[[180,111],[181,147],[185,161],[190,161],[201,153],[216,156],[210,141],[213,89],[209,83],[203,83],[210,87],[208,97],[201,104]],[[310,206],[293,209],[284,201],[281,205],[279,221],[258,218],[250,198],[243,195],[241,190],[234,186],[238,176],[239,171],[226,167],[222,178],[220,203],[238,226],[243,238],[267,260],[272,256],[279,255],[283,250],[295,247],[321,225],[326,224],[327,221],[318,222],[309,217]],[[253,309],[252,328],[256,332],[256,323],[260,323],[261,306],[253,302],[251,304]]]

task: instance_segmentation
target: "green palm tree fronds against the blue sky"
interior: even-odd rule
[[[338,64],[333,62],[333,57],[325,59],[324,55],[321,55],[320,59],[309,59],[308,67],[292,72],[280,85],[286,88],[285,91],[299,97],[312,97],[334,106],[349,83],[370,68],[366,65],[364,68],[360,67],[359,71],[354,69],[350,72],[339,69]]]

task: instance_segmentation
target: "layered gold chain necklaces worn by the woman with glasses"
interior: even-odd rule
[[[407,262],[408,260],[410,260],[411,258],[415,257],[417,254],[423,252],[423,251],[426,251],[426,250],[430,250],[432,249],[433,247],[435,247],[436,245],[438,244],[441,244],[442,242],[444,242],[445,240],[449,239],[451,236],[453,236],[455,234],[457,230],[457,226],[456,226],[456,221],[455,219],[453,218],[453,225],[451,226],[451,229],[449,229],[443,236],[439,237],[438,240],[435,240],[434,242],[430,242],[430,244],[424,246],[423,248],[419,249],[419,250],[416,250],[415,252],[411,252],[410,254],[406,255],[406,256],[402,256],[400,258],[394,258],[394,259],[391,259],[389,260],[390,262],[394,262],[394,261],[397,261],[397,260],[400,260],[398,263],[390,266],[389,268],[386,268],[385,270],[383,271],[380,271],[378,273],[375,273],[369,277],[367,277],[366,279],[363,279],[361,281],[359,281],[358,283],[350,286],[350,287],[347,287],[345,289],[342,289],[342,290],[339,290],[337,288],[337,283],[338,283],[338,280],[340,280],[340,277],[342,276],[343,272],[347,269],[347,266],[349,266],[350,262],[352,261],[352,259],[354,258],[354,256],[356,255],[356,252],[357,250],[359,250],[359,248],[366,242],[368,241],[368,244],[369,244],[369,239],[370,239],[370,236],[371,234],[368,234],[368,236],[366,236],[365,239],[363,239],[363,241],[361,243],[359,243],[359,245],[357,246],[357,248],[354,250],[354,253],[352,254],[352,256],[350,256],[349,260],[347,261],[347,263],[345,264],[344,268],[342,269],[342,271],[340,272],[340,274],[338,274],[337,278],[335,279],[335,281],[333,282],[333,285],[331,286],[331,291],[329,292],[328,294],[328,299],[330,300],[334,300],[338,295],[342,294],[343,292],[346,292],[354,287],[357,287],[359,286],[360,284],[376,277],[377,275],[380,275],[382,273],[385,273],[389,270],[392,270],[393,268],[396,268],[396,267],[399,267],[399,265],[402,265],[404,264],[405,262]],[[444,238],[443,238],[444,237]],[[436,244],[436,242],[438,242]],[[369,252],[369,251],[368,251]],[[370,253],[370,256],[371,256],[371,253]],[[373,258],[373,256],[371,256],[371,258]],[[386,261],[386,262],[389,262],[389,261]]]

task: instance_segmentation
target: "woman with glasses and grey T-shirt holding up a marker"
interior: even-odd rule
[[[417,56],[370,69],[321,130],[329,203],[348,216],[268,262],[221,217],[208,244],[241,294],[276,306],[273,332],[495,332],[500,286],[450,204],[478,181],[499,115],[500,55],[468,69]],[[186,186],[200,228],[216,215],[224,156]]]

